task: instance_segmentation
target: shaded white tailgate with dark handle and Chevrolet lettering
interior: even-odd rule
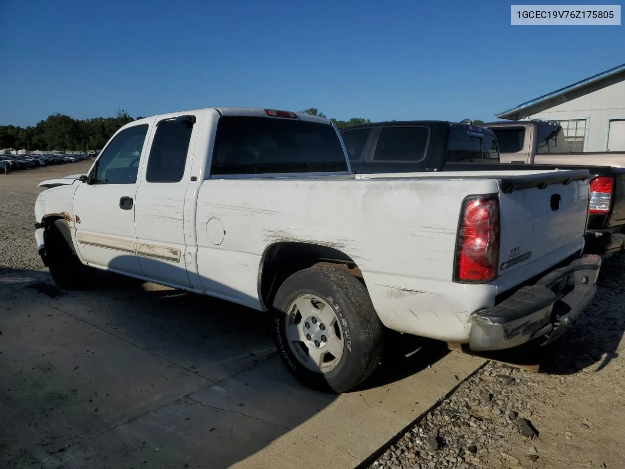
[[[550,172],[525,183],[524,178],[499,179],[500,278],[515,271],[530,278],[539,273],[530,267],[532,261],[554,265],[583,246],[578,244],[588,216],[587,176],[582,169]]]

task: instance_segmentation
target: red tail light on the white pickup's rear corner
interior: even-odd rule
[[[496,278],[499,231],[496,194],[464,199],[456,246],[457,282],[487,283]]]

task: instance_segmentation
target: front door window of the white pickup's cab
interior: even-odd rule
[[[134,184],[148,125],[124,129],[108,144],[96,163],[93,184]]]

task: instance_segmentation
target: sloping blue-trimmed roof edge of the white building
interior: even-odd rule
[[[621,64],[604,72],[597,73],[590,78],[577,81],[577,83],[570,84],[564,88],[556,89],[556,91],[552,91],[551,93],[543,94],[539,96],[539,98],[526,101],[526,103],[519,104],[512,109],[507,109],[507,111],[502,111],[499,114],[495,114],[495,116],[499,119],[521,119],[624,79],[625,64]]]

